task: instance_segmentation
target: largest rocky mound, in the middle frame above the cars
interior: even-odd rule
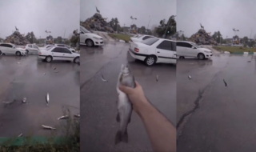
[[[87,18],[85,22],[81,23],[81,26],[84,26],[87,30],[98,30],[104,32],[114,33],[114,30],[101,14],[94,14],[93,17]]]

